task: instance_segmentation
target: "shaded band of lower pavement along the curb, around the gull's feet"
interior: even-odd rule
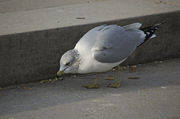
[[[109,83],[115,82],[103,80],[107,75],[114,75],[114,73],[102,74],[103,78],[99,80],[99,89],[82,87],[93,83],[95,75],[71,76],[54,83],[32,83],[9,87],[0,91],[0,115],[95,99],[107,94],[123,94],[162,86],[180,85],[180,80],[177,80],[180,73],[169,62],[166,65],[141,65],[133,73],[129,73],[127,70],[122,71],[121,86],[117,89],[107,87]],[[139,79],[128,79],[130,76],[138,76]]]

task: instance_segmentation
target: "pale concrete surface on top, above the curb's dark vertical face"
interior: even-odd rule
[[[180,0],[1,0],[0,35],[179,10]]]

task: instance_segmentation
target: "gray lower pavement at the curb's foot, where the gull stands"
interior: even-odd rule
[[[0,90],[0,119],[179,119],[179,77],[180,59],[174,59],[122,71],[118,89],[106,87],[114,82],[107,80],[99,89],[82,88],[92,74],[12,86]]]

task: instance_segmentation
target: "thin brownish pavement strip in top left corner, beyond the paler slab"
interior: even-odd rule
[[[29,11],[82,3],[88,3],[88,0],[0,0],[0,13]]]

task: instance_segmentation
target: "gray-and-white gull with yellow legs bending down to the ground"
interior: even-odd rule
[[[117,67],[118,79],[112,88],[120,86],[120,64],[130,56],[137,47],[154,38],[159,24],[140,28],[141,23],[126,26],[101,25],[89,30],[75,45],[65,52],[60,59],[57,76],[63,73],[97,73],[106,72]],[[92,85],[86,88],[98,88],[98,76]]]

